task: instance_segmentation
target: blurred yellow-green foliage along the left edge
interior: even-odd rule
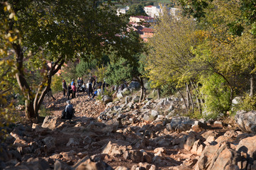
[[[0,20],[0,142],[3,142],[7,135],[6,128],[18,118],[18,111],[12,102],[13,91],[17,91],[17,83],[14,81],[17,69],[10,48],[13,42],[19,42],[19,30],[8,25],[17,20],[16,13],[8,2],[0,3],[1,12],[4,19]]]

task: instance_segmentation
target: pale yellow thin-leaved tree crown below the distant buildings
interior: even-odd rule
[[[166,11],[160,17],[155,35],[149,40],[151,50],[145,67],[153,88],[167,84],[183,87],[189,82],[187,67],[194,57],[191,49],[198,42],[195,30],[196,22],[192,18],[169,16]]]

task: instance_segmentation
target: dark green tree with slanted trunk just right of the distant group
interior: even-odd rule
[[[143,52],[147,49],[137,32],[130,30],[128,37],[123,37],[126,42],[122,51],[113,50],[109,55],[110,64],[106,68],[106,82],[119,85],[123,81],[135,80],[140,83],[140,101],[145,99],[143,76],[145,75]]]

